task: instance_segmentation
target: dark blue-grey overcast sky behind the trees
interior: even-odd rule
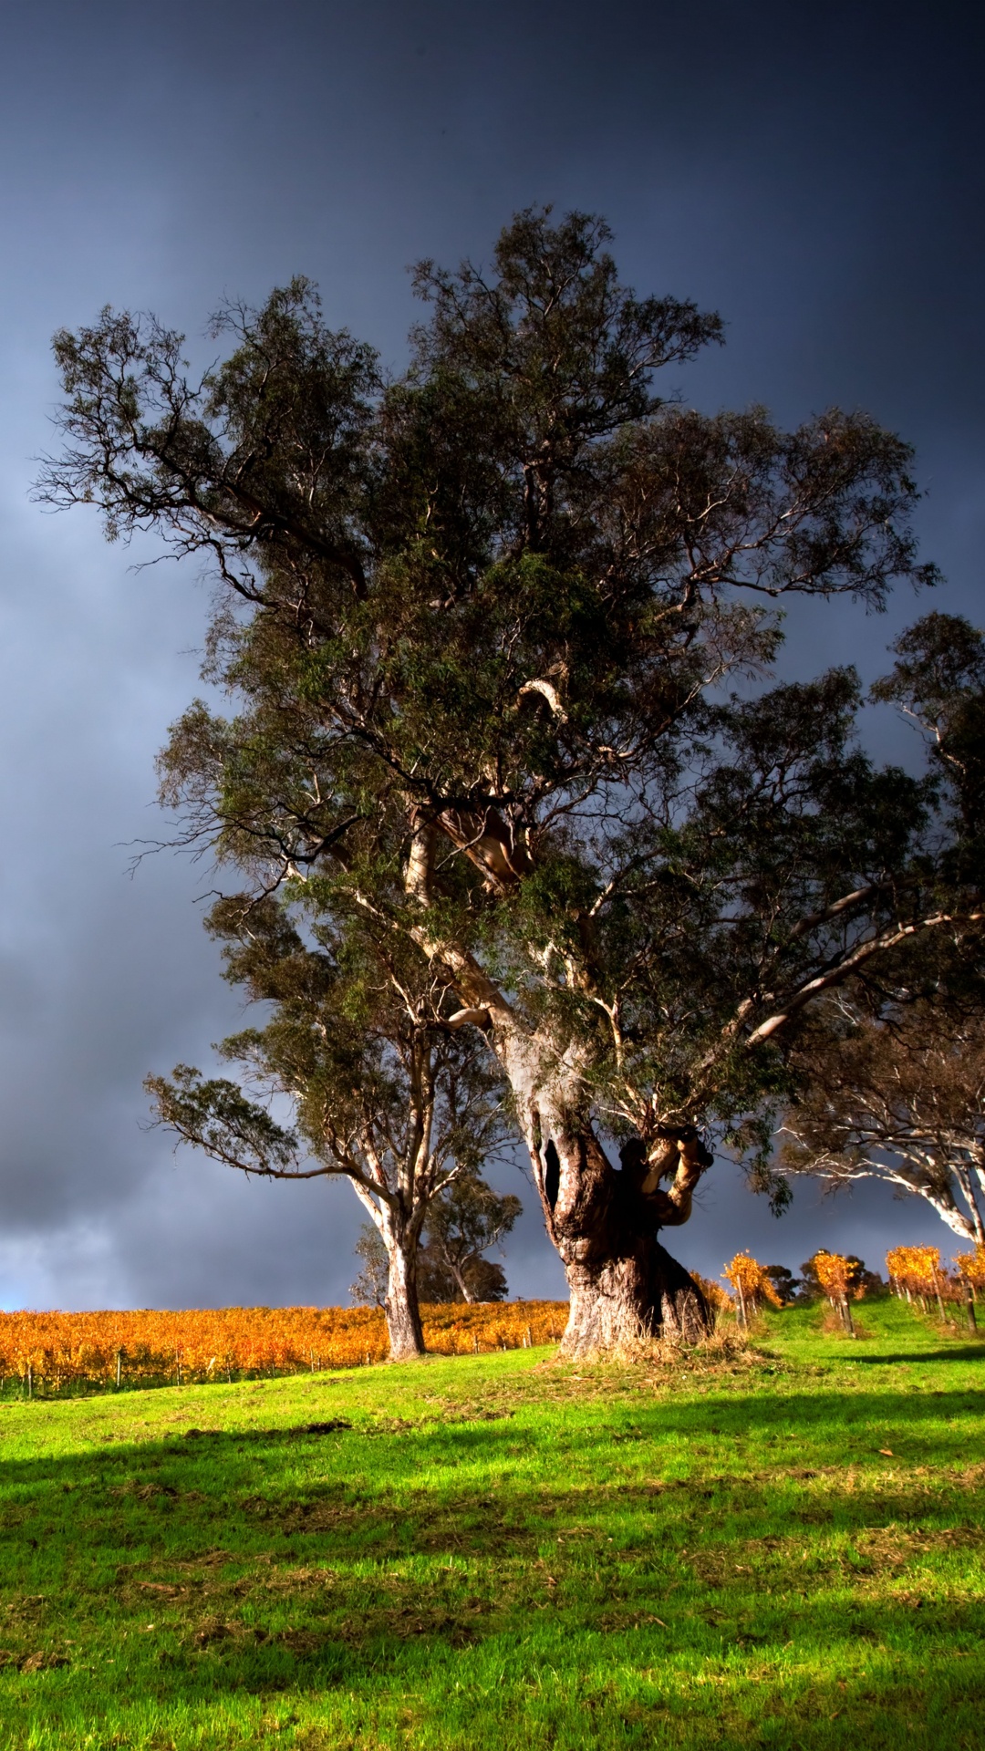
[[[603,212],[626,278],[715,306],[703,406],[869,408],[917,445],[939,606],[980,618],[985,510],[981,35],[967,5],[747,0],[144,0],[0,5],[0,1304],[347,1297],[347,1185],[261,1185],[142,1128],[147,1070],[240,1024],[196,897],[154,837],[154,751],[198,685],[207,592],[133,574],[95,515],[30,503],[49,340],[102,305],[203,354],[224,294],[307,273],[400,366],[407,264],[489,257],[533,201]],[[811,606],[785,672],[868,678],[918,611]],[[892,718],[873,748],[899,755]],[[498,1175],[514,1185],[515,1177]],[[522,1185],[519,1187],[522,1192]],[[563,1292],[528,1191],[514,1292]],[[675,1236],[880,1264],[948,1231],[869,1189],[775,1222],[715,1168]]]

